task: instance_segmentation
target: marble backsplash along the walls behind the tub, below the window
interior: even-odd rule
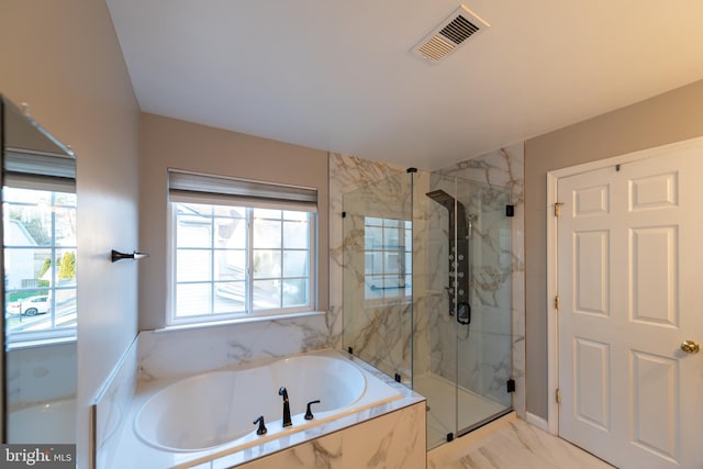
[[[326,315],[320,313],[228,326],[140,333],[92,406],[96,424],[91,438],[97,467],[109,467],[114,458],[137,384],[328,348],[328,330]]]

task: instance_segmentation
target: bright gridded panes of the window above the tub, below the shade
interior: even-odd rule
[[[170,324],[313,308],[314,212],[171,201]]]

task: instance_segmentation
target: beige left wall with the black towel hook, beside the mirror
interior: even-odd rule
[[[2,0],[0,92],[78,155],[78,466],[89,404],[136,334],[138,107],[104,1]]]

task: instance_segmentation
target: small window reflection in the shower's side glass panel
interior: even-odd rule
[[[365,298],[404,299],[412,294],[412,222],[364,217]]]

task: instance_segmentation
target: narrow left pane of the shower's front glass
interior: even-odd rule
[[[427,399],[427,448],[457,434],[457,213],[451,178],[421,172],[413,183],[413,389]]]

